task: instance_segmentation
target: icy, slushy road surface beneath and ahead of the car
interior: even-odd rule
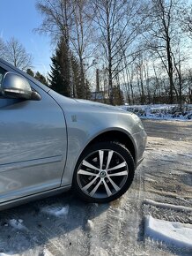
[[[2,211],[0,256],[191,255],[146,237],[144,217],[192,223],[192,212],[146,201],[191,207],[192,122],[144,120],[144,127],[144,162],[120,200],[85,204],[67,192]]]

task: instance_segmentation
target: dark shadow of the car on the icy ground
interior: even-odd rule
[[[0,255],[44,255],[48,243],[59,237],[68,237],[63,246],[77,246],[77,237],[69,234],[77,229],[88,233],[92,219],[108,207],[85,203],[70,191],[4,210],[0,212]]]

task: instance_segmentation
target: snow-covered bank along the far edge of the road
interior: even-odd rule
[[[155,105],[123,105],[122,109],[135,113],[138,117],[145,119],[163,120],[192,120],[192,104],[178,105],[155,104]]]

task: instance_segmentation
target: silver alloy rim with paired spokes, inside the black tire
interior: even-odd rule
[[[115,145],[87,151],[78,168],[78,186],[90,199],[110,200],[114,194],[121,194],[129,177],[129,163]]]

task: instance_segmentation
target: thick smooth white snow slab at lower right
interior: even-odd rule
[[[192,249],[192,225],[145,217],[145,235],[166,244]]]

